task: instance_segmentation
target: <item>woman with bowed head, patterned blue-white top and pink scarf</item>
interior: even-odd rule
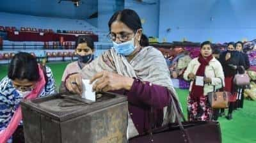
[[[0,142],[24,142],[20,102],[56,93],[51,69],[26,52],[15,54],[0,82]],[[14,134],[13,134],[14,133]]]

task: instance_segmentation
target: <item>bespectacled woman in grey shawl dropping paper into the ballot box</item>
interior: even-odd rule
[[[147,46],[141,20],[133,10],[117,11],[109,20],[113,48],[104,52],[65,85],[68,91],[81,93],[81,79],[90,79],[94,91],[113,91],[128,98],[128,139],[175,120],[170,96],[175,96],[163,54]],[[152,109],[152,110],[151,110]],[[166,116],[170,115],[170,116]]]

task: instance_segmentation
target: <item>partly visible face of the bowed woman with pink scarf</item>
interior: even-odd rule
[[[13,80],[13,86],[22,92],[25,91],[32,91],[35,86],[36,86],[36,82],[35,81],[29,81],[28,79],[15,79]]]

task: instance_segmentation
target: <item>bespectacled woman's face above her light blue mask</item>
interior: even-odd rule
[[[138,31],[133,31],[123,22],[115,21],[111,24],[110,34],[112,36],[111,40],[115,41],[116,43],[122,43],[134,38],[134,45],[138,45],[138,41],[140,41],[141,38],[142,29],[138,29]]]

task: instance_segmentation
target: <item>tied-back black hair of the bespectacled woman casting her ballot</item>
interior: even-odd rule
[[[127,27],[132,29],[134,33],[138,29],[142,29],[140,17],[134,10],[124,9],[124,10],[116,11],[116,13],[114,13],[111,19],[109,19],[109,22],[108,22],[109,31],[111,31],[111,24],[116,20],[123,22]],[[145,34],[141,35],[140,45],[142,47],[148,46],[148,38]]]

